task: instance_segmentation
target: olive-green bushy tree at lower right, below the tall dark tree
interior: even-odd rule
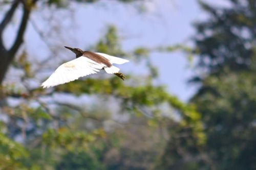
[[[241,72],[221,77],[208,77],[205,90],[194,98],[203,114],[207,131],[207,150],[218,169],[254,169],[256,114],[254,74]],[[207,107],[202,107],[207,106]]]

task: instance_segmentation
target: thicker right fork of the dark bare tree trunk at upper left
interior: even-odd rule
[[[25,3],[23,3],[22,21],[20,22],[16,39],[15,39],[12,47],[9,50],[9,53],[10,53],[10,57],[8,59],[9,62],[12,61],[12,59],[14,58],[15,54],[17,53],[20,45],[23,43],[23,36],[24,36],[25,30],[27,27],[29,14],[30,14],[30,8]]]

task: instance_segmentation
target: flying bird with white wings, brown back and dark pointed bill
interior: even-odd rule
[[[114,74],[124,80],[126,77],[113,64],[123,64],[129,60],[110,56],[104,53],[82,51],[79,48],[64,46],[76,54],[76,59],[61,64],[53,74],[41,84],[42,88],[49,88],[77,80],[80,77],[95,74],[104,69],[108,74]]]

